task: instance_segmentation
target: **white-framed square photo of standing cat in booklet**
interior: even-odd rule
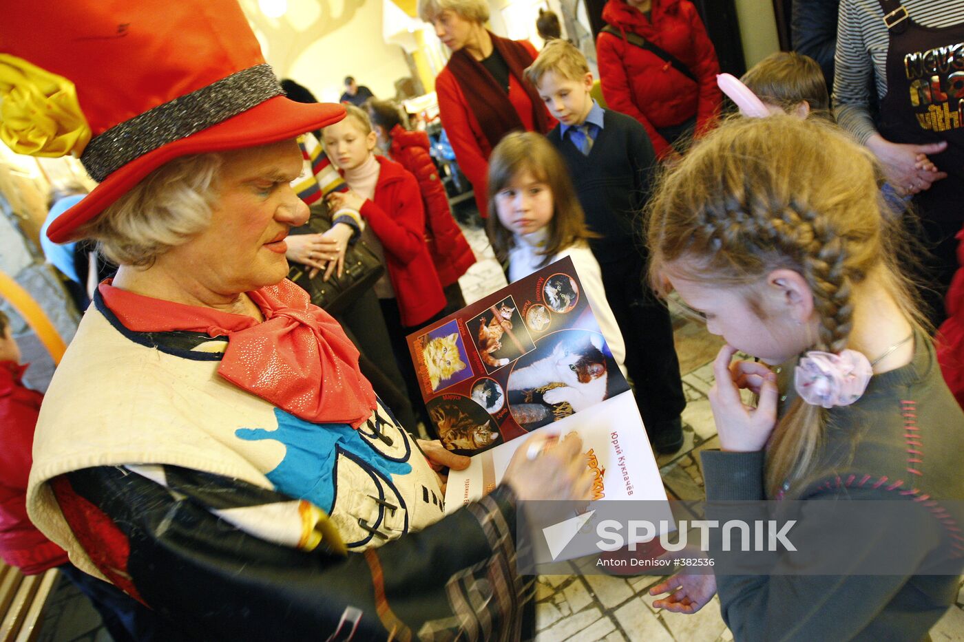
[[[471,318],[466,327],[475,341],[479,359],[490,374],[535,348],[511,296],[484,309]]]

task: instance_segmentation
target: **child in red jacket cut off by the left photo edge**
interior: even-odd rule
[[[23,386],[20,378],[26,369],[20,365],[9,319],[0,312],[0,557],[23,575],[39,575],[56,567],[91,600],[118,642],[182,639],[147,606],[70,564],[67,552],[44,537],[27,517],[27,479],[43,395]]]

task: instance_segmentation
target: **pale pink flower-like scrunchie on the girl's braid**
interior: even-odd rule
[[[870,360],[856,350],[838,355],[812,350],[797,363],[793,386],[812,406],[849,406],[864,394],[872,374]]]

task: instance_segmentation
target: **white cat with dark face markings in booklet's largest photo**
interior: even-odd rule
[[[603,337],[600,334],[563,337],[549,357],[513,370],[509,377],[509,390],[532,390],[562,384],[546,390],[542,395],[543,401],[547,404],[568,401],[573,411],[578,413],[605,399],[608,375],[602,348]]]

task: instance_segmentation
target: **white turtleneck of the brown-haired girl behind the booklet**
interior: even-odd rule
[[[509,251],[509,282],[514,283],[524,279],[544,267],[541,264],[546,256],[538,253],[546,247],[548,237],[548,227],[543,227],[530,234],[516,234],[516,245]],[[593,314],[596,315],[600,331],[605,337],[605,342],[609,344],[613,359],[616,360],[619,369],[626,376],[626,366],[623,364],[626,359],[626,343],[623,341],[623,334],[619,331],[619,325],[616,323],[616,316],[612,313],[612,308],[609,308],[609,302],[605,299],[603,272],[600,270],[600,264],[596,261],[596,257],[593,256],[589,246],[584,242],[570,246],[559,254],[555,254],[549,258],[549,263],[554,263],[566,256],[573,259],[576,274],[579,276],[579,282],[586,293],[586,298],[589,299],[589,305],[593,308]]]

